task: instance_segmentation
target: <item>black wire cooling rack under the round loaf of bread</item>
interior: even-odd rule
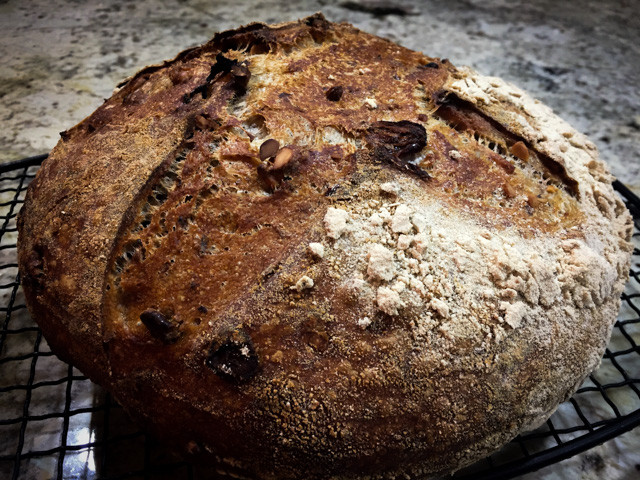
[[[59,360],[24,304],[16,217],[46,155],[0,165],[0,478],[211,479],[143,434],[110,395]],[[598,370],[541,428],[459,472],[514,478],[640,425],[640,199],[614,184],[634,216],[630,280]]]

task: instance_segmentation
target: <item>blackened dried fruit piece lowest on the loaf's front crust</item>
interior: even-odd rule
[[[223,342],[214,340],[205,365],[228,382],[244,383],[258,372],[259,362],[251,338],[240,331],[233,332]]]

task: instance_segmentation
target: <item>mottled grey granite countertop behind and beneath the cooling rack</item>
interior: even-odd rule
[[[214,32],[322,11],[528,90],[592,138],[640,194],[640,16],[633,1],[0,0],[0,162],[45,153],[116,84]],[[374,8],[372,8],[372,6]],[[638,429],[534,478],[631,479]]]

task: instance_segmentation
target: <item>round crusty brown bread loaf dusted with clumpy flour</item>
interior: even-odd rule
[[[54,352],[251,478],[441,474],[598,365],[631,218],[518,88],[321,15],[143,69],[19,217]]]

